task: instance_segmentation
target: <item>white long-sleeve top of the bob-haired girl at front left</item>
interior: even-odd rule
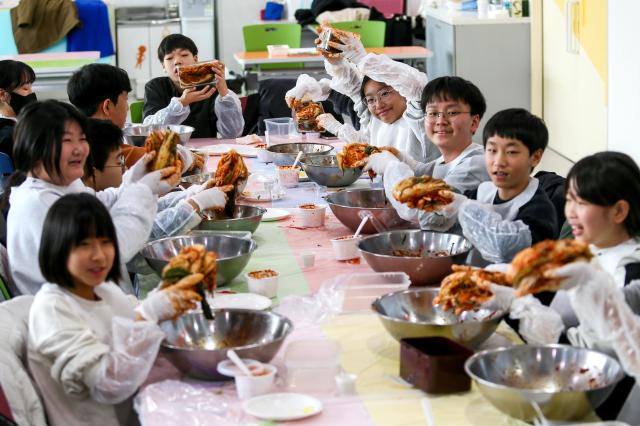
[[[51,426],[127,424],[164,338],[157,324],[134,321],[136,300],[118,286],[94,291],[100,300],[46,283],[29,312],[29,368]]]

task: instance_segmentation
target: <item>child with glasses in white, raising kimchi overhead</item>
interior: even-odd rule
[[[420,99],[427,84],[426,75],[384,55],[367,55],[360,40],[354,37],[349,36],[343,42],[333,45],[341,49],[342,54],[325,55],[325,68],[331,81],[321,80],[316,85],[310,77],[301,77],[286,97],[323,100],[330,89],[334,89],[353,100],[360,117],[360,130],[341,124],[331,114],[323,114],[318,117],[318,123],[330,133],[348,143],[391,146],[415,161],[426,162],[438,157],[440,154],[427,138],[424,127],[418,126],[415,131],[405,118],[407,104],[416,96]]]

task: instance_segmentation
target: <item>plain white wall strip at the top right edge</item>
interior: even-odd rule
[[[640,1],[610,0],[608,12],[608,149],[626,152],[640,163]]]

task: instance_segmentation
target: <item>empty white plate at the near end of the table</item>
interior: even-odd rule
[[[271,393],[246,400],[242,409],[259,419],[296,420],[318,414],[322,402],[300,393]]]

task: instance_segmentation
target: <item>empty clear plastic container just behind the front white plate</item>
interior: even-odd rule
[[[340,346],[333,340],[296,340],[284,353],[286,387],[302,393],[336,392]]]

